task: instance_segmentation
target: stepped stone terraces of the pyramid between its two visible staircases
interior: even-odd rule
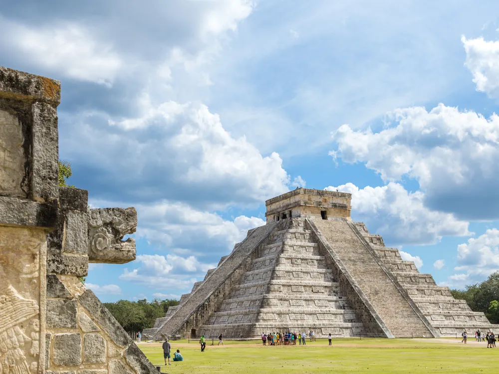
[[[201,329],[206,336],[262,332],[359,335],[362,323],[340,290],[303,218],[288,219],[262,244],[249,271]]]

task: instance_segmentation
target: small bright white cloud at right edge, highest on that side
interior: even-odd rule
[[[473,74],[477,91],[491,98],[499,98],[499,41],[486,41],[481,36],[475,39],[461,37],[465,51],[465,66]]]

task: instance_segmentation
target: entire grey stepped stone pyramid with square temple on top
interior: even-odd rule
[[[297,188],[267,200],[266,224],[249,230],[143,336],[250,339],[312,330],[318,337],[437,338],[498,329],[353,222],[351,198]]]

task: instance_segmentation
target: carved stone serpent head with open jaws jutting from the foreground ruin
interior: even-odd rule
[[[122,240],[137,229],[135,208],[88,210],[88,258],[90,262],[126,263],[135,260],[135,239]]]

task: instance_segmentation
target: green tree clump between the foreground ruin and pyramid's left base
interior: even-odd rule
[[[165,317],[168,308],[179,305],[175,299],[146,299],[138,301],[120,300],[115,303],[104,303],[116,321],[128,332],[142,331],[154,326],[156,318]]]

